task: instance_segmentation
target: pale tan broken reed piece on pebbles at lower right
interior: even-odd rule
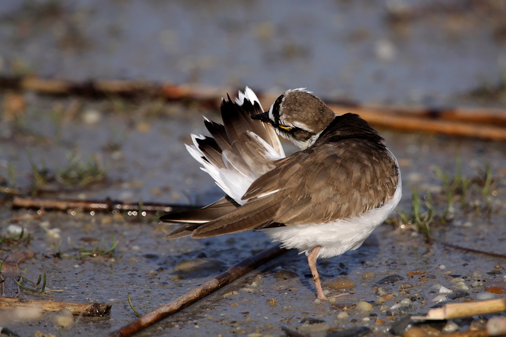
[[[425,317],[413,316],[413,320],[441,320],[458,317],[493,314],[506,311],[506,298],[481,302],[450,303],[443,308],[431,309]]]

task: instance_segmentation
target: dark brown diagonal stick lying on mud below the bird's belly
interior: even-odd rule
[[[139,332],[205,298],[210,293],[235,281],[239,277],[258,268],[264,263],[277,258],[278,256],[284,254],[286,251],[286,249],[280,248],[279,246],[273,246],[271,248],[265,249],[252,257],[242,260],[237,265],[227,269],[223,274],[220,274],[212,280],[205,282],[201,286],[191,290],[190,292],[187,292],[176,300],[147,313],[134,322],[109,333],[107,336],[131,336],[134,333]]]

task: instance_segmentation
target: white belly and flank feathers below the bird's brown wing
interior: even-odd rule
[[[262,229],[273,241],[281,241],[285,248],[297,248],[306,255],[321,246],[318,257],[330,258],[345,251],[357,249],[372,231],[393,212],[402,195],[399,183],[393,198],[383,206],[368,210],[354,219],[337,220],[325,224],[296,225]]]

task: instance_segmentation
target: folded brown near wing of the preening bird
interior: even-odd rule
[[[251,184],[243,206],[203,224],[192,236],[359,216],[390,200],[397,181],[395,160],[383,146],[356,139],[314,146],[277,161]]]

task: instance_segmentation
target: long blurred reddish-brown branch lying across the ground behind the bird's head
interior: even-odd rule
[[[162,98],[167,101],[192,100],[218,106],[231,88],[150,83],[136,80],[93,80],[72,82],[37,77],[0,76],[0,88],[35,91],[47,95],[82,95],[88,97],[121,96],[125,98]],[[258,97],[270,106],[275,95]],[[427,132],[451,136],[506,141],[506,111],[486,108],[434,108],[361,105],[353,101],[325,100],[335,113],[358,113],[373,126],[407,132]]]

